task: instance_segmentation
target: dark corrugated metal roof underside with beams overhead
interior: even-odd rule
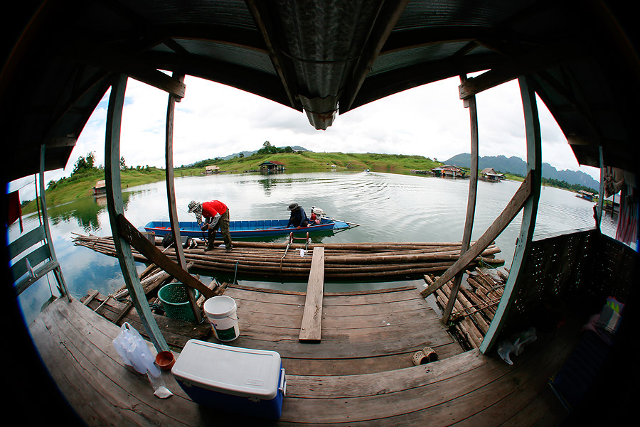
[[[636,169],[630,153],[640,67],[620,25],[632,13],[599,1],[85,0],[21,7],[0,76],[3,131],[18,147],[6,158],[9,180],[38,171],[43,143],[46,169],[65,166],[114,74],[183,96],[183,85],[159,70],[279,102],[306,113],[316,129],[331,126],[337,112],[447,77],[491,70],[464,85],[465,96],[529,75],[579,163],[599,166],[602,146],[607,166]]]

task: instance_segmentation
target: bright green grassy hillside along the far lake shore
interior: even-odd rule
[[[404,156],[401,154],[358,154],[358,153],[279,153],[253,155],[229,160],[210,160],[198,162],[198,168],[175,168],[174,176],[201,175],[207,165],[220,166],[221,173],[243,173],[260,169],[264,161],[279,161],[284,163],[289,172],[314,172],[332,169],[336,165],[338,171],[370,171],[388,173],[410,173],[411,169],[430,170],[441,165],[437,161],[422,156]],[[47,205],[61,205],[71,200],[92,195],[92,188],[98,180],[105,179],[101,169],[93,168],[83,173],[75,173],[70,178],[62,178],[57,182],[50,181],[46,190]],[[133,187],[145,183],[164,180],[164,169],[158,168],[130,168],[121,171],[122,188]],[[24,213],[35,212],[36,203],[30,202],[23,206]]]

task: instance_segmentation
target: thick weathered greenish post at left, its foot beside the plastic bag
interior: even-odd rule
[[[107,190],[107,211],[111,223],[113,241],[122,269],[124,283],[129,289],[132,302],[136,308],[147,335],[157,351],[169,350],[158,324],[154,319],[144,290],[140,284],[131,247],[120,234],[118,215],[124,215],[122,202],[122,184],[120,183],[120,125],[124,106],[124,90],[127,87],[127,75],[117,75],[111,86],[109,109],[107,110],[107,129],[105,138],[105,184]]]

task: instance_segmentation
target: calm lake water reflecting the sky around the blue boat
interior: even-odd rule
[[[479,181],[476,220],[472,239],[478,239],[502,212],[518,189],[516,181]],[[220,174],[175,179],[178,219],[193,220],[190,200],[218,199],[230,209],[231,220],[288,218],[287,206],[302,205],[310,215],[312,206],[329,216],[359,224],[329,236],[314,237],[315,242],[459,242],[462,240],[468,179],[434,178],[425,175],[395,175],[375,172]],[[151,220],[169,220],[164,181],[127,188],[123,191],[125,216],[142,229]],[[548,234],[582,227],[593,227],[593,203],[574,193],[543,187],[540,194],[535,234]],[[83,198],[65,205],[49,207],[55,254],[63,269],[70,294],[82,298],[90,289],[113,293],[124,281],[117,259],[72,243],[73,233],[110,236],[110,222],[104,200]],[[602,230],[615,233],[615,218],[605,215]],[[521,215],[496,239],[501,253],[496,257],[511,265]],[[38,225],[38,215],[23,218],[25,230]],[[9,240],[19,235],[18,223],[9,227]],[[286,242],[286,237],[275,241]],[[138,264],[138,271],[144,269]],[[51,276],[51,275],[49,275]],[[216,277],[220,281],[233,280]],[[306,283],[268,283],[238,281],[242,284],[304,290]],[[50,296],[58,296],[53,277],[43,278],[19,300],[30,323]],[[327,291],[384,288],[418,281],[394,283],[327,283]]]

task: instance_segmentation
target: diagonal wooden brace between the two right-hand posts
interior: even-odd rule
[[[533,173],[529,172],[527,178],[525,178],[523,183],[520,185],[520,188],[518,188],[518,191],[516,191],[516,194],[514,194],[513,198],[509,200],[508,204],[506,205],[500,216],[496,218],[494,223],[491,224],[488,229],[486,229],[486,232],[482,234],[482,236],[476,241],[473,246],[471,246],[471,248],[467,252],[464,253],[464,255],[461,255],[459,259],[454,262],[454,264],[450,266],[449,269],[447,269],[447,271],[444,271],[444,274],[442,274],[442,276],[440,276],[437,281],[433,283],[433,285],[428,286],[424,291],[420,293],[422,296],[429,296],[431,293],[433,293],[433,291],[442,287],[444,283],[447,283],[449,280],[453,279],[456,274],[462,271],[462,269],[464,269],[471,261],[473,261],[476,256],[481,254],[484,249],[486,249],[486,247],[488,247],[489,244],[491,244],[491,242],[493,242],[494,239],[496,239],[496,237],[500,235],[503,229],[505,229],[507,225],[509,225],[509,223],[513,220],[513,218],[518,215],[518,212],[520,212],[521,208],[529,198],[531,194],[532,181]]]

